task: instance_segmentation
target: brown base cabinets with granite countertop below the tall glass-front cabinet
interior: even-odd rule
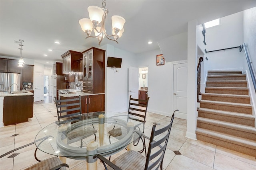
[[[67,92],[62,94],[62,92]],[[105,94],[104,93],[84,93],[76,90],[59,90],[59,99],[71,99],[81,96],[82,113],[105,111]],[[67,113],[71,114],[71,113]]]

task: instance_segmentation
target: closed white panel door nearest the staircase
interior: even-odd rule
[[[187,119],[187,63],[173,65],[173,111],[175,117]]]

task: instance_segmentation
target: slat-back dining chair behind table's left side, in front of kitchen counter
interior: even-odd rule
[[[56,107],[57,107],[57,115],[58,115],[58,121],[60,119],[66,118],[66,121],[72,121],[75,122],[76,119],[79,121],[81,118],[81,96],[77,96],[70,99],[64,99],[64,100],[57,100],[56,101]],[[65,113],[65,114],[64,114]],[[61,121],[60,121],[61,124]],[[82,140],[94,135],[94,141],[96,141],[96,133],[97,130],[94,128],[87,129],[87,132],[85,132],[83,129],[74,129],[72,133],[68,133],[67,138],[67,144],[74,143],[77,141],[81,141],[81,147],[83,146]]]

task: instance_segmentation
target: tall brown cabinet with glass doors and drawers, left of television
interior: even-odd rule
[[[90,48],[82,52],[83,92],[105,92],[105,50]]]

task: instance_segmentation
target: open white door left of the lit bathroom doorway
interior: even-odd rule
[[[129,67],[129,98],[139,98],[139,69],[136,67]]]

